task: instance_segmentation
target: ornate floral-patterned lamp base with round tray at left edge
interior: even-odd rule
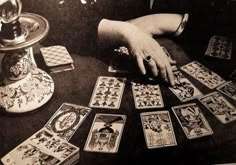
[[[0,107],[13,113],[37,109],[54,92],[52,78],[32,62],[32,45],[47,35],[48,21],[21,9],[20,0],[0,1]]]

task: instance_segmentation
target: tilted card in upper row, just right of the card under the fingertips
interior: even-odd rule
[[[225,80],[218,74],[197,61],[186,64],[182,66],[181,69],[210,89],[214,89],[217,86],[225,83]]]

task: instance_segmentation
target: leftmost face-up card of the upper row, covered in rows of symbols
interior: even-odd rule
[[[90,107],[119,109],[125,78],[99,76],[89,103]]]

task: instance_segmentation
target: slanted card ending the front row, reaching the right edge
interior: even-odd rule
[[[223,124],[236,119],[236,108],[219,92],[202,96],[199,101]]]

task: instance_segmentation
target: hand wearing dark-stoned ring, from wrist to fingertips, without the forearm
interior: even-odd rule
[[[141,74],[145,75],[147,70],[150,70],[153,77],[160,74],[161,78],[174,85],[171,64],[175,61],[170,61],[159,43],[138,28],[133,28],[126,37],[129,50],[134,55]]]

